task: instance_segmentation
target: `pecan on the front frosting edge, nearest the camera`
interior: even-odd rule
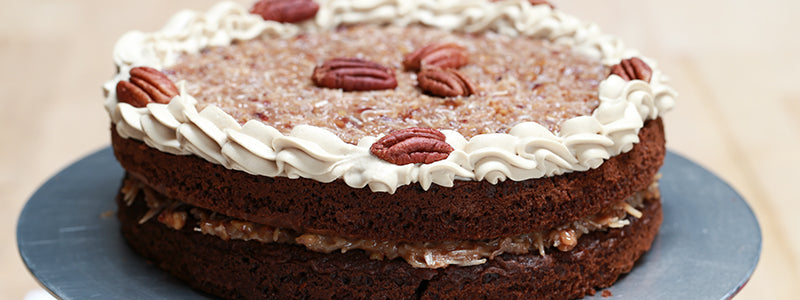
[[[429,164],[446,159],[453,147],[432,128],[406,128],[391,132],[369,148],[380,159],[396,165]]]

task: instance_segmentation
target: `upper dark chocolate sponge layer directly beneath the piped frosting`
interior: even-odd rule
[[[342,181],[253,176],[175,156],[112,132],[122,166],[170,198],[299,232],[394,241],[478,240],[553,228],[595,214],[646,188],[663,163],[661,119],[648,121],[640,143],[599,168],[525,181],[456,181],[394,194],[355,189]]]

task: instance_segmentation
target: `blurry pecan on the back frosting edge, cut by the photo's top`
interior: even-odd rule
[[[267,21],[297,23],[313,18],[318,10],[319,4],[311,0],[261,0],[250,12]]]

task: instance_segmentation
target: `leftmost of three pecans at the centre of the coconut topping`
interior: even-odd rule
[[[359,58],[334,58],[314,68],[317,86],[345,91],[385,90],[397,87],[394,71]]]

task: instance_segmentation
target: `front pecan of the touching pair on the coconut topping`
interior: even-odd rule
[[[424,69],[417,74],[417,86],[439,97],[467,97],[476,91],[475,85],[455,69]]]

